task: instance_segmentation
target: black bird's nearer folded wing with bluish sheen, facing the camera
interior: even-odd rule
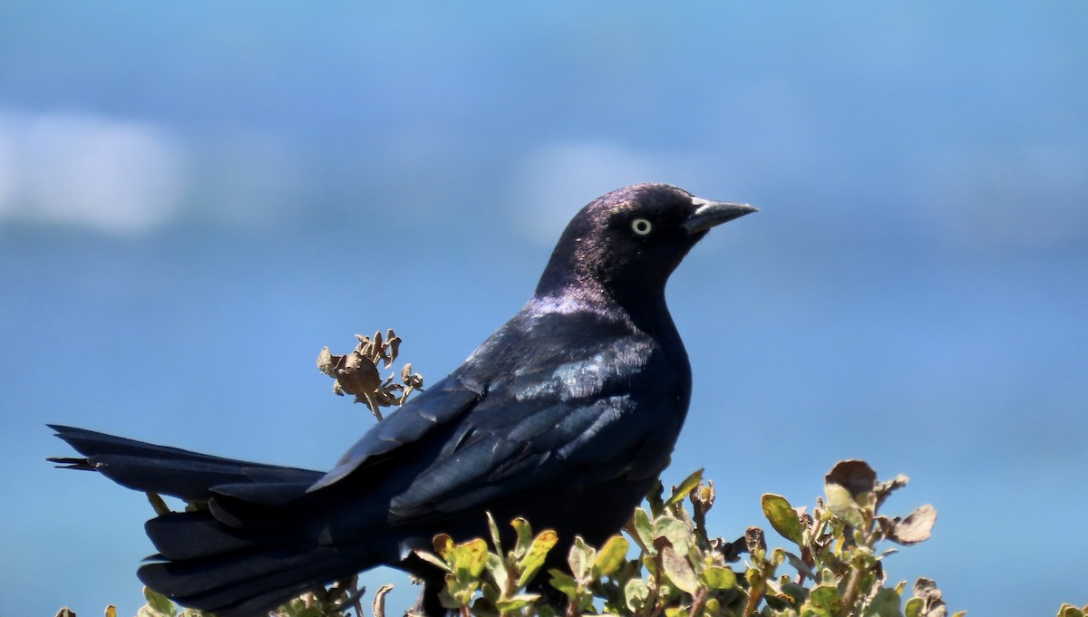
[[[392,517],[441,519],[660,471],[671,425],[682,420],[673,413],[682,380],[656,343],[598,320],[536,324],[520,330],[517,361],[492,374],[486,396],[393,499]]]

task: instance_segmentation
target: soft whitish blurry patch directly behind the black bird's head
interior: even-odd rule
[[[555,243],[583,205],[639,182],[685,182],[705,176],[708,162],[690,153],[642,152],[598,142],[558,143],[531,152],[514,174],[509,203],[517,229],[532,241]]]

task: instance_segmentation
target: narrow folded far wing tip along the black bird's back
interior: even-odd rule
[[[335,467],[311,484],[308,492],[329,487],[357,469],[388,458],[398,448],[419,441],[435,427],[454,421],[481,396],[482,392],[465,386],[456,377],[446,377],[378,423]]]

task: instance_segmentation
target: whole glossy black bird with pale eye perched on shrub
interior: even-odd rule
[[[562,542],[599,543],[623,525],[667,465],[691,394],[665,282],[708,229],[754,211],[657,184],[591,202],[529,303],[329,473],[62,426],[86,458],[52,461],[207,503],[146,525],[159,554],[139,578],[185,606],[252,617],[385,564],[422,578],[422,610],[441,614],[443,576],[412,554],[436,533],[485,536],[485,511]]]

